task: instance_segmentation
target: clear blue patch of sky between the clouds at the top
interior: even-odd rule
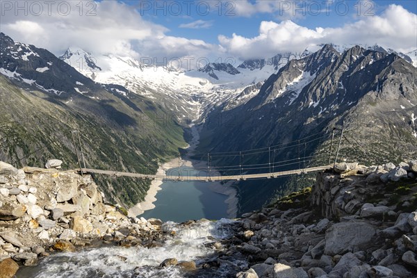
[[[277,5],[278,1],[260,0]],[[204,40],[218,43],[218,35],[238,33],[252,38],[259,33],[262,21],[281,22],[291,19],[293,22],[308,28],[341,27],[344,24],[357,21],[360,17],[380,15],[390,4],[397,4],[411,13],[417,13],[416,0],[377,0],[377,1],[282,1],[276,10],[259,11],[246,15],[238,10],[238,5],[244,0],[237,1],[124,1],[136,8],[145,19],[161,24],[170,29],[169,35]],[[201,2],[201,3],[199,3]],[[249,1],[253,6],[256,1]],[[206,3],[210,4],[206,8]],[[181,10],[179,9],[181,6]],[[202,21],[195,28],[181,24],[191,24]],[[198,26],[200,26],[198,28]],[[417,42],[416,42],[417,43]]]

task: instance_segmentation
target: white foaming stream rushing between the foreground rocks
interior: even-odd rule
[[[167,222],[163,229],[177,231],[174,238],[165,241],[162,247],[99,247],[80,252],[62,252],[42,259],[38,265],[23,267],[17,272],[22,278],[133,278],[133,277],[190,277],[179,267],[159,268],[167,258],[178,261],[196,261],[214,254],[214,250],[204,243],[213,242],[213,238],[226,238],[231,234],[232,220],[218,222],[200,221],[189,227]],[[211,238],[213,237],[213,238]],[[241,262],[236,261],[239,267]],[[229,266],[230,267],[230,266]],[[230,271],[228,266],[198,277],[223,277]],[[222,275],[222,272],[224,275]],[[224,276],[226,277],[226,276]]]

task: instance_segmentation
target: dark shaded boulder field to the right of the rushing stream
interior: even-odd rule
[[[306,199],[309,190],[242,215],[235,237],[222,242],[222,260],[245,258],[236,277],[415,277],[412,165],[342,163],[320,172]]]

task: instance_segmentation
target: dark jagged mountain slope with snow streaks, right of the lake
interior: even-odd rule
[[[202,127],[199,150],[255,149],[327,132],[326,138],[302,150],[304,156],[322,154],[320,161],[308,161],[306,165],[325,165],[329,152],[326,139],[334,126],[343,126],[346,132],[339,158],[366,164],[400,162],[417,155],[416,104],[416,69],[409,62],[395,54],[359,46],[340,54],[327,44],[272,74],[259,94],[246,104],[229,111],[219,108],[208,115],[212,119],[221,115],[224,122]],[[297,149],[274,152],[274,158],[280,161],[297,156]],[[213,158],[213,165],[238,165],[245,159]],[[250,164],[265,162],[268,152],[250,158]],[[268,190],[264,189],[271,190],[276,183],[265,181],[260,186],[256,181],[254,187],[251,181],[240,182],[241,204],[264,202],[268,199]]]

